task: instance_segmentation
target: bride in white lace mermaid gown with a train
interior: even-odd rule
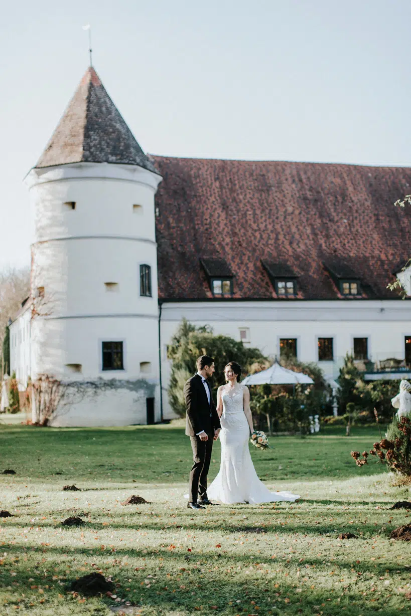
[[[222,431],[221,465],[217,477],[207,490],[211,500],[233,503],[270,503],[296,501],[300,498],[291,492],[270,492],[259,480],[249,452],[252,415],[250,392],[238,383],[241,366],[230,362],[224,369],[226,385],[218,387],[217,413]]]

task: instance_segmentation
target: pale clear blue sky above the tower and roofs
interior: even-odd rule
[[[0,270],[23,179],[93,65],[145,152],[411,165],[410,0],[19,0],[0,22]]]

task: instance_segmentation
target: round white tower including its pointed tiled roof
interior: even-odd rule
[[[64,383],[55,426],[160,418],[161,179],[90,67],[27,177],[35,220],[31,378]]]

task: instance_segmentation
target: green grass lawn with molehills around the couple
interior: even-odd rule
[[[409,488],[385,467],[359,469],[376,428],[326,428],[273,437],[252,451],[260,479],[301,502],[186,508],[189,439],[179,424],[127,428],[33,428],[0,424],[0,614],[302,614],[391,616],[409,612],[411,546],[390,540],[410,522]],[[210,479],[217,474],[215,445]],[[63,492],[75,484],[81,492]],[[123,506],[131,494],[150,505]],[[68,516],[86,525],[62,527]],[[341,532],[359,536],[339,540]],[[117,597],[67,593],[70,580],[101,571]],[[411,596],[411,594],[410,594]],[[125,601],[122,601],[124,599]],[[130,607],[125,606],[130,602]]]

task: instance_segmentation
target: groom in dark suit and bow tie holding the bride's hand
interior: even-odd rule
[[[221,430],[220,419],[207,379],[214,373],[214,359],[201,355],[197,359],[197,374],[184,386],[186,402],[186,435],[193,449],[193,468],[190,472],[188,508],[204,509],[212,505],[207,498],[207,473],[209,472],[213,440]]]

